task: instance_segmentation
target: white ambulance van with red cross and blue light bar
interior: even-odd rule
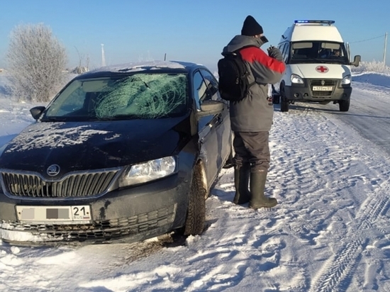
[[[279,42],[286,71],[279,84],[282,112],[299,102],[338,103],[340,111],[350,108],[351,69],[359,66],[360,55],[350,60],[350,48],[334,26],[335,21],[294,21]],[[279,97],[280,96],[280,97]]]

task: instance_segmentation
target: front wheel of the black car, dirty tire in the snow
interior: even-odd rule
[[[189,192],[189,203],[184,223],[184,235],[200,235],[206,221],[207,191],[201,176],[201,166],[196,164]]]

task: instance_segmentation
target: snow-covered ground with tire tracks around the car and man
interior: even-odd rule
[[[183,245],[0,243],[0,291],[390,291],[390,76],[366,72],[353,85],[347,113],[275,105],[267,193],[276,208],[231,203],[225,169],[203,235]],[[0,147],[35,106],[5,96],[0,77]],[[352,125],[359,118],[369,123]]]

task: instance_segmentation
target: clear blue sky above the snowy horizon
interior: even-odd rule
[[[277,45],[295,19],[335,21],[352,55],[382,61],[390,33],[390,1],[255,0],[0,0],[0,67],[18,24],[44,23],[66,47],[69,67],[89,56],[90,67],[138,60],[182,60],[216,69],[223,47],[252,15]],[[390,48],[388,46],[389,51]],[[386,64],[390,64],[386,54]]]

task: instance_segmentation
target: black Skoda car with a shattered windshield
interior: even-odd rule
[[[231,158],[228,103],[204,66],[144,62],[81,74],[0,148],[5,242],[134,242],[204,230]]]

